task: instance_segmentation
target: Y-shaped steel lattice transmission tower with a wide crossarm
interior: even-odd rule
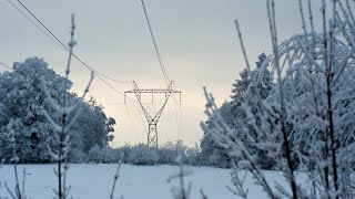
[[[126,94],[129,94],[129,93],[135,94],[138,103],[140,104],[142,111],[144,113],[144,116],[146,118],[146,122],[148,122],[148,138],[146,138],[148,146],[158,147],[158,128],[156,128],[158,122],[164,111],[164,107],[165,107],[171,94],[179,93],[180,94],[180,102],[181,102],[181,92],[172,88],[173,81],[170,82],[170,84],[168,85],[168,88],[165,88],[165,90],[156,90],[156,88],[141,90],[138,87],[138,85],[134,81],[132,82],[132,84],[133,84],[133,90],[124,92],[124,102],[125,102]],[[165,101],[164,101],[163,105],[161,106],[161,108],[158,111],[158,113],[154,115],[154,117],[152,117],[148,113],[146,108],[143,106],[142,97],[141,97],[142,94],[152,94],[152,102],[154,101],[153,100],[154,94],[165,94]]]

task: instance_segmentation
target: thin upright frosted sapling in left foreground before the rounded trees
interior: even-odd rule
[[[68,96],[68,82],[69,82],[69,74],[70,74],[70,65],[71,65],[71,59],[73,55],[73,46],[77,44],[74,41],[74,15],[71,18],[71,32],[70,32],[70,42],[69,42],[69,57],[65,69],[65,83],[63,86],[63,95],[61,103],[55,103],[51,96],[50,91],[47,87],[48,82],[42,81],[41,86],[42,90],[48,98],[49,104],[52,108],[54,108],[55,112],[59,113],[59,118],[52,118],[50,114],[43,108],[43,115],[49,121],[49,123],[52,125],[52,128],[54,129],[54,133],[58,135],[58,146],[48,147],[48,151],[51,155],[52,159],[54,159],[58,163],[57,169],[54,169],[54,174],[58,177],[58,189],[54,189],[54,193],[58,196],[59,199],[65,199],[70,191],[70,186],[68,187],[65,185],[67,179],[67,171],[69,169],[68,165],[68,154],[71,148],[71,139],[72,134],[70,134],[70,129],[73,126],[73,124],[77,122],[78,116],[81,112],[80,105],[81,101],[77,100],[75,97]],[[91,78],[89,81],[88,86],[85,87],[82,98],[85,96],[85,94],[89,92],[89,87],[92,83],[93,78],[93,72],[91,73]],[[43,78],[42,78],[43,80]],[[57,122],[55,122],[57,121]]]

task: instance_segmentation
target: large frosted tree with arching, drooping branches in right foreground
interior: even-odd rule
[[[205,113],[213,128],[204,123],[202,127],[220,146],[229,149],[231,157],[240,159],[232,180],[235,185],[233,192],[243,198],[247,197],[247,191],[239,178],[239,170],[250,171],[270,198],[354,196],[355,18],[349,1],[332,1],[331,6],[322,1],[323,30],[316,31],[308,1],[310,31],[302,0],[298,2],[303,33],[278,45],[275,3],[267,0],[273,54],[266,57],[261,69],[272,69],[276,84],[263,101],[253,97],[244,101],[256,102],[260,113],[253,112],[252,104],[242,103],[247,123],[237,123],[247,132],[251,132],[248,125],[252,125],[256,138],[250,136],[247,139],[276,163],[290,188],[271,186],[254,151],[236,136],[222,117],[213,96],[206,93]],[[332,11],[331,18],[327,9]],[[264,76],[262,70],[257,71],[256,76]],[[258,85],[261,80],[252,78],[248,90]],[[260,123],[255,116],[260,116]],[[308,175],[308,185],[296,181],[297,169]]]

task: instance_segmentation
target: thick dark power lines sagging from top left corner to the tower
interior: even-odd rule
[[[30,20],[37,28],[39,28],[47,36],[51,38],[52,40],[55,40],[55,41],[57,41],[55,44],[61,45],[61,48],[63,48],[65,51],[69,52],[69,48],[68,48],[61,40],[59,40],[59,39],[53,34],[53,32],[50,31],[50,30],[33,14],[33,12],[31,12],[20,0],[17,0],[17,1],[18,1],[18,2],[36,19],[36,21],[37,21],[38,23],[40,23],[40,24],[50,33],[50,35],[52,35],[54,39],[53,39],[52,36],[50,36],[48,33],[45,33],[42,29],[40,29],[40,28],[39,28],[31,19],[29,19],[20,9],[18,9],[12,2],[10,2],[10,0],[8,0],[9,3],[11,3],[14,8],[17,8],[18,11],[20,11],[20,12],[21,12],[28,20]],[[83,62],[77,54],[72,53],[72,55],[73,55],[82,65],[84,65],[88,70],[92,71],[97,76],[101,75],[101,76],[103,76],[103,77],[105,77],[105,78],[109,78],[109,80],[111,80],[111,81],[113,81],[113,82],[116,82],[116,83],[131,83],[131,82],[125,82],[125,81],[118,81],[118,80],[114,80],[114,78],[112,78],[112,77],[110,77],[110,76],[108,76],[108,75],[104,75],[103,73],[101,73],[101,72],[94,70],[93,67],[89,66],[89,65],[88,65],[85,62]],[[100,78],[100,80],[102,80],[102,78]],[[108,84],[108,83],[105,83],[105,84]]]

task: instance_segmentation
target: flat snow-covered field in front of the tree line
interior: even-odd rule
[[[57,186],[53,174],[54,165],[24,165],[26,167],[26,195],[33,199],[53,198],[52,188]],[[233,196],[226,186],[231,186],[231,170],[190,167],[193,174],[186,177],[186,181],[192,182],[191,198],[201,198],[202,189],[209,199],[232,199]],[[68,172],[68,184],[71,186],[71,196],[77,199],[101,199],[109,198],[113,182],[116,165],[71,165]],[[115,198],[123,196],[125,199],[168,199],[172,198],[171,189],[178,186],[178,179],[168,182],[170,175],[179,170],[176,166],[132,166],[122,165],[120,178],[116,184]],[[267,179],[285,184],[280,172],[267,171]],[[7,196],[3,181],[13,187],[13,167],[3,166],[0,168],[0,198]],[[260,187],[253,185],[251,176],[247,176],[246,186],[248,187],[250,198],[265,198],[265,193]]]

